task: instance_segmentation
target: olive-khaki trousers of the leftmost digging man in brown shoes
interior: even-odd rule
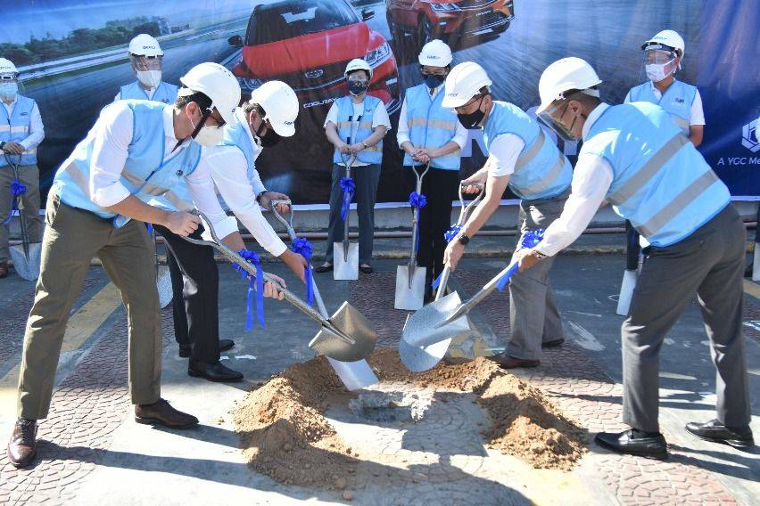
[[[24,336],[18,415],[29,420],[47,416],[66,323],[93,257],[103,262],[127,309],[132,403],[158,401],[161,315],[145,224],[133,220],[114,228],[112,220],[70,208],[54,192],[47,200],[45,222],[41,273]]]

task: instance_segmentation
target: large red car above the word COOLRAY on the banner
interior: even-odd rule
[[[232,72],[244,90],[278,79],[292,86],[304,108],[333,102],[348,93],[346,64],[363,58],[373,69],[369,94],[389,112],[401,105],[399,72],[390,45],[345,0],[285,0],[253,8],[245,38],[230,37],[243,47]]]

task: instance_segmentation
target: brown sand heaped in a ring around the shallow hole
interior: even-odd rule
[[[541,392],[487,359],[441,363],[413,374],[396,350],[380,348],[368,362],[384,383],[474,392],[492,420],[483,436],[502,453],[548,469],[571,469],[582,456],[582,429]],[[352,397],[324,357],[293,365],[249,392],[232,411],[246,460],[288,485],[351,488],[364,459],[343,443],[324,412],[330,404],[347,405]]]

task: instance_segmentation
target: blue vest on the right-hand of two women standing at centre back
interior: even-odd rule
[[[457,133],[457,114],[442,107],[442,90],[431,98],[430,88],[418,85],[407,90],[407,126],[409,141],[415,148],[438,149]],[[430,159],[430,167],[459,170],[460,150]],[[412,158],[404,154],[404,165],[411,166]]]

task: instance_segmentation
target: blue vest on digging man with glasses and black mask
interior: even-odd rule
[[[493,102],[483,126],[483,142],[489,149],[496,137],[512,134],[525,143],[509,177],[509,188],[523,200],[550,199],[567,191],[573,180],[570,161],[547,139],[538,122],[508,102]]]

